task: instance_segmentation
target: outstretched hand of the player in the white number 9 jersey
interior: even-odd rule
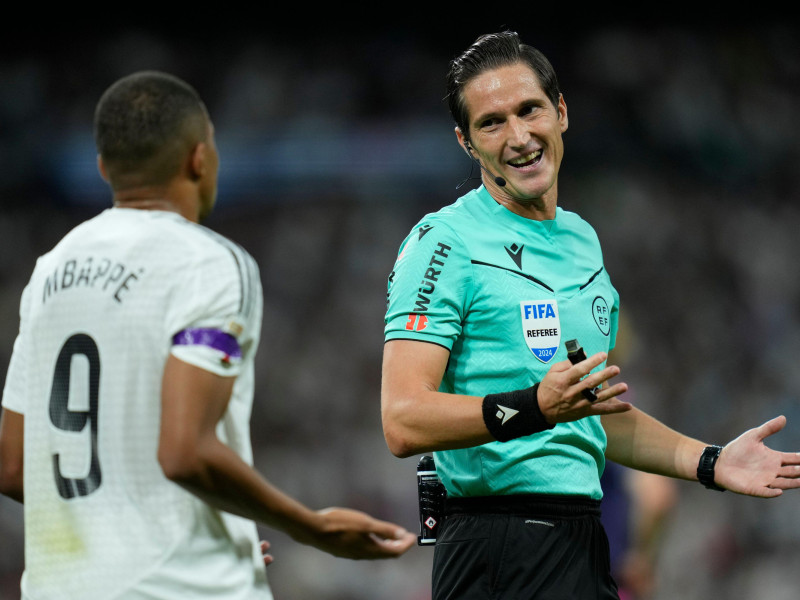
[[[416,541],[414,534],[399,525],[361,511],[327,508],[317,514],[322,517],[322,527],[311,544],[341,558],[396,558]]]

